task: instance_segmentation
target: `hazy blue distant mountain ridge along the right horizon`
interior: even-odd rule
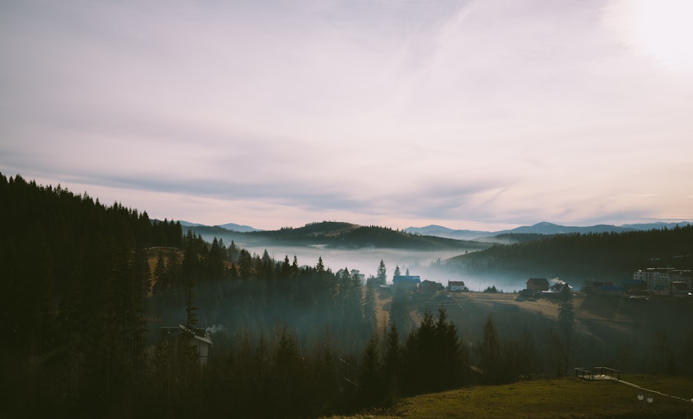
[[[443,227],[441,225],[426,225],[425,227],[409,227],[405,228],[403,231],[412,234],[425,234],[428,236],[446,237],[448,239],[458,239],[458,240],[474,240],[482,239],[484,237],[494,237],[501,234],[566,234],[566,233],[603,233],[603,232],[628,232],[628,231],[644,231],[644,230],[663,230],[664,228],[672,229],[676,228],[676,225],[684,226],[689,225],[688,221],[681,221],[680,223],[642,223],[642,224],[624,224],[624,225],[610,225],[610,224],[597,224],[590,225],[587,227],[577,227],[568,225],[559,225],[554,223],[548,223],[543,221],[541,223],[536,223],[534,225],[523,225],[518,228],[513,228],[511,230],[500,230],[496,232],[490,231],[479,231],[479,230],[453,230],[451,228]]]

